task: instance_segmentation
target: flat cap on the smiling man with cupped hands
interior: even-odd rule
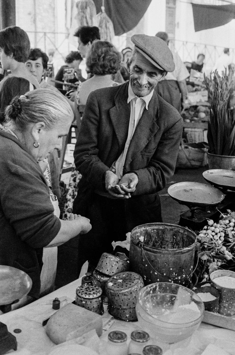
[[[131,40],[136,49],[158,69],[169,72],[175,70],[173,55],[166,42],[161,38],[146,34],[134,34]]]

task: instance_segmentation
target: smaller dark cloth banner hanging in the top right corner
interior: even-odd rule
[[[223,26],[235,18],[235,5],[192,4],[195,32]]]

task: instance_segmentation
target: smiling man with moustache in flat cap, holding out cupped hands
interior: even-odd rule
[[[175,68],[172,53],[160,38],[131,39],[130,81],[89,95],[75,145],[82,179],[73,212],[92,225],[79,240],[78,270],[86,260],[95,267],[135,226],[162,222],[158,191],[174,174],[182,118],[154,90]]]

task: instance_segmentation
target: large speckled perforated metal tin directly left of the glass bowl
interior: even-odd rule
[[[108,302],[116,308],[134,308],[142,287],[144,287],[144,282],[139,274],[131,271],[120,272],[106,283]]]

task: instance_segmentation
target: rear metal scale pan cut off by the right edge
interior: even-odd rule
[[[213,186],[224,191],[235,191],[235,170],[211,169],[204,171],[202,176]]]

